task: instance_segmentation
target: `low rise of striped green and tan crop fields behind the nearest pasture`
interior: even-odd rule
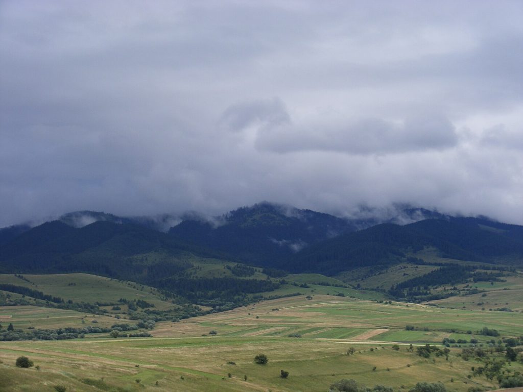
[[[407,331],[406,326],[412,326],[414,330]],[[350,340],[379,330],[375,338],[366,339],[441,342],[445,337],[467,340],[473,337],[483,342],[490,338],[475,336],[483,327],[497,329],[502,336],[523,335],[523,314],[314,295],[311,300],[304,296],[280,298],[177,323],[160,322],[153,334],[187,337],[215,330],[219,336],[287,337],[289,333],[298,332],[307,339]]]

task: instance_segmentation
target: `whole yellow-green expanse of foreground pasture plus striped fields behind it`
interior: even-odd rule
[[[405,330],[406,325],[417,329]],[[497,329],[501,337],[520,336],[523,314],[327,295],[280,298],[181,322],[159,322],[153,338],[1,342],[0,391],[52,392],[62,384],[75,391],[325,392],[341,378],[395,390],[408,390],[420,381],[441,381],[448,390],[463,392],[471,386],[494,389],[497,384],[484,376],[467,377],[477,364],[457,356],[460,349],[451,348],[448,360],[408,351],[410,342],[443,337],[486,341],[475,334],[485,326]],[[217,335],[202,336],[211,330]],[[400,350],[393,349],[395,342]],[[347,355],[350,347],[356,350],[353,355]],[[268,356],[266,365],[254,363],[259,353]],[[20,355],[40,370],[15,367]],[[510,369],[521,372],[523,365],[513,362]],[[281,378],[280,370],[289,377]]]

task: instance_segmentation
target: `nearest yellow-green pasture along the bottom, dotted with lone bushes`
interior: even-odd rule
[[[349,347],[356,349],[355,354],[346,354]],[[433,362],[406,349],[406,345],[395,351],[390,344],[263,337],[4,342],[0,391],[46,392],[58,384],[79,392],[98,390],[83,383],[85,378],[103,383],[105,390],[124,391],[324,392],[341,378],[399,390],[418,381],[441,381],[449,390],[463,392],[472,385],[494,387],[485,377],[469,380],[471,363],[458,358],[455,350],[448,361]],[[254,363],[258,353],[268,356],[266,365]],[[28,356],[40,370],[16,368],[19,355]],[[522,367],[513,364],[513,370]],[[287,379],[279,376],[281,369],[289,372]]]

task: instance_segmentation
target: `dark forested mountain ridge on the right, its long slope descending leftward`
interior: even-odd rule
[[[295,254],[291,271],[334,274],[354,267],[395,263],[431,247],[441,257],[523,265],[523,226],[485,218],[428,219],[399,226],[382,224],[322,241]]]

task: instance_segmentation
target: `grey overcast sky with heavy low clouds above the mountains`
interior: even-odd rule
[[[523,2],[0,0],[0,226],[411,203],[523,224]]]

